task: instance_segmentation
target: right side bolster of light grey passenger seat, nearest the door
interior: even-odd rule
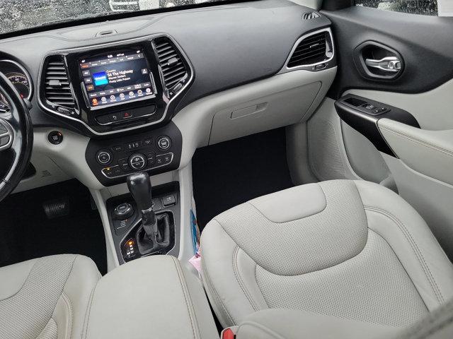
[[[430,311],[453,297],[453,266],[420,215],[378,184],[355,182],[368,227],[386,239]]]

